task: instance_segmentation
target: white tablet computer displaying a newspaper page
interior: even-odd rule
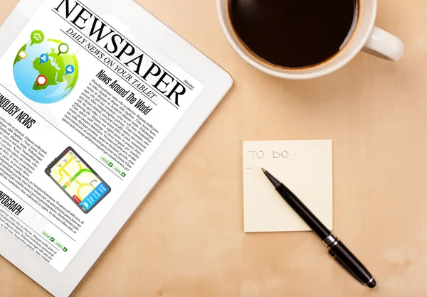
[[[21,0],[0,38],[0,254],[68,296],[232,79],[130,0]]]

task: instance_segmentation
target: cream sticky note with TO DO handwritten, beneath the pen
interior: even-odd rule
[[[245,232],[310,230],[265,177],[284,183],[332,230],[332,141],[243,141]]]

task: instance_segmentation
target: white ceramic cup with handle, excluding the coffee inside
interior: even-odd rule
[[[376,57],[392,61],[399,60],[404,53],[404,43],[399,38],[374,26],[377,0],[359,0],[359,17],[355,24],[356,28],[354,28],[352,37],[337,55],[334,55],[330,60],[309,68],[280,68],[256,58],[241,43],[231,25],[228,15],[228,1],[216,0],[219,21],[228,43],[247,63],[275,77],[290,80],[321,77],[342,68],[361,50]]]

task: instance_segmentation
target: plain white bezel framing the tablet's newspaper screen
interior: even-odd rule
[[[43,1],[21,0],[4,21],[0,27],[0,56],[18,36]],[[122,2],[122,0],[120,1]],[[126,2],[127,5],[121,6],[121,10],[117,10],[117,16],[122,13],[130,15],[127,19],[120,19],[125,25],[132,27],[132,19],[137,19],[138,13],[143,8],[133,1],[127,0]],[[0,229],[1,256],[55,296],[69,296],[73,292],[117,232],[120,231],[233,84],[233,80],[227,72],[184,41],[172,29],[158,21],[157,18],[154,16],[152,18],[152,30],[157,30],[159,36],[162,36],[162,38],[157,38],[152,42],[153,47],[164,53],[181,68],[184,68],[196,80],[199,80],[204,85],[204,90],[122,195],[120,200],[125,200],[125,202],[120,203],[119,200],[112,207],[112,210],[105,216],[63,273],[53,269],[50,264],[37,257],[8,232]]]

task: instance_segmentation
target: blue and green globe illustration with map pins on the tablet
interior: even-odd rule
[[[63,41],[44,39],[33,31],[31,41],[16,53],[14,78],[19,90],[34,102],[49,104],[67,97],[78,80],[78,61]]]

